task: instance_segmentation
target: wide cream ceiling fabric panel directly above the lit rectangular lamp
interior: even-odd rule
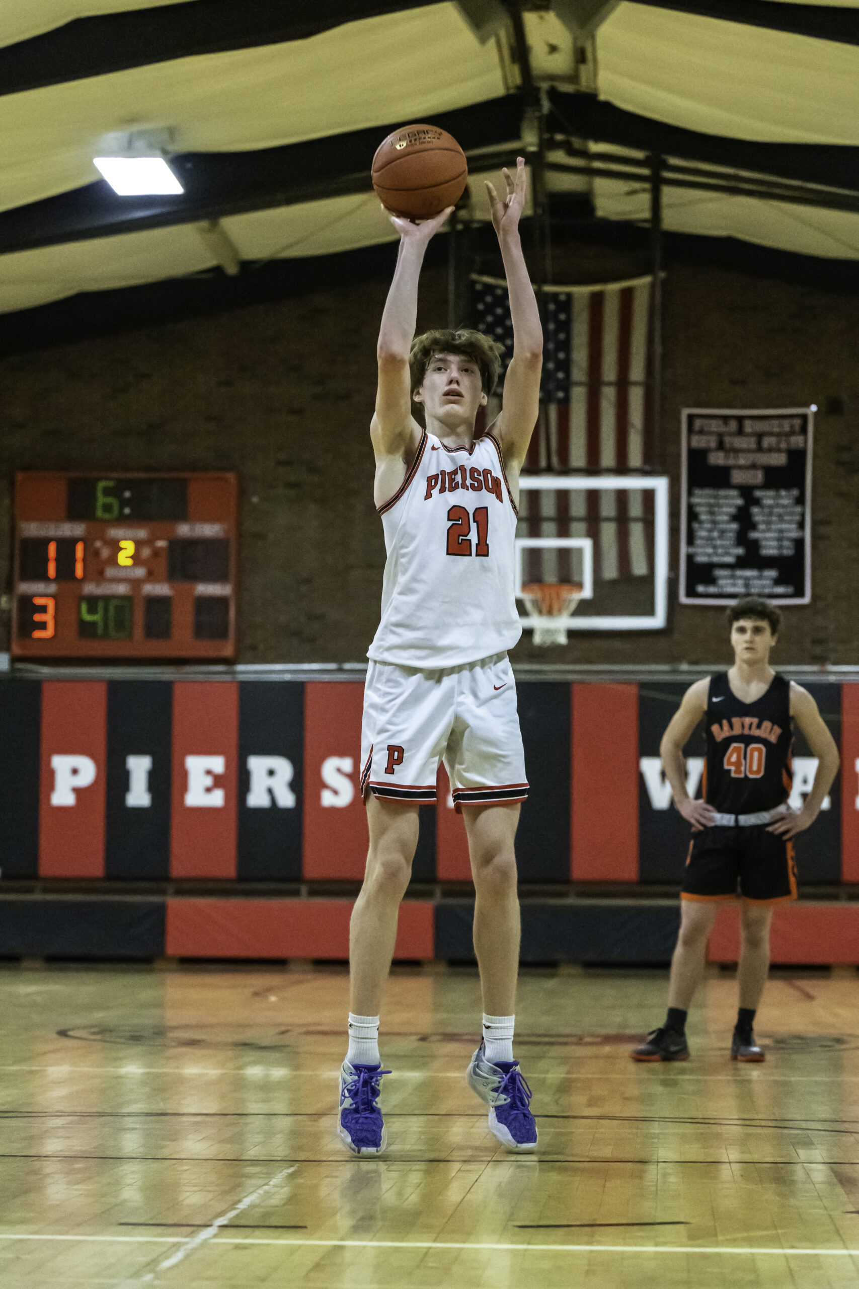
[[[434,116],[502,93],[495,45],[479,45],[455,5],[437,4],[309,40],[10,94],[0,97],[0,209],[98,179],[99,138],[130,122],[173,125],[176,152],[240,152],[407,121],[416,111]]]

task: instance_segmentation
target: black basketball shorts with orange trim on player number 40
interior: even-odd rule
[[[751,904],[796,900],[793,843],[765,826],[703,828],[694,833],[683,875],[683,900]]]

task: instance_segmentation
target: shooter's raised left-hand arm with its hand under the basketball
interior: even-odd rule
[[[408,351],[415,336],[417,280],[424,254],[430,237],[438,232],[449,213],[451,209],[443,210],[440,215],[425,219],[420,224],[397,215],[390,220],[399,232],[401,241],[376,347],[379,387],[376,414],[370,432],[377,463],[390,459],[406,460],[421,436],[421,428],[412,418]]]

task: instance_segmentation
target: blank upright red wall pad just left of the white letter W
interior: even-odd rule
[[[572,878],[637,882],[639,687],[572,690]]]

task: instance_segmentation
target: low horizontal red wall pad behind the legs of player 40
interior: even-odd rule
[[[786,904],[773,913],[771,962],[859,964],[859,905]],[[710,937],[711,963],[739,958],[739,907],[722,906]]]

